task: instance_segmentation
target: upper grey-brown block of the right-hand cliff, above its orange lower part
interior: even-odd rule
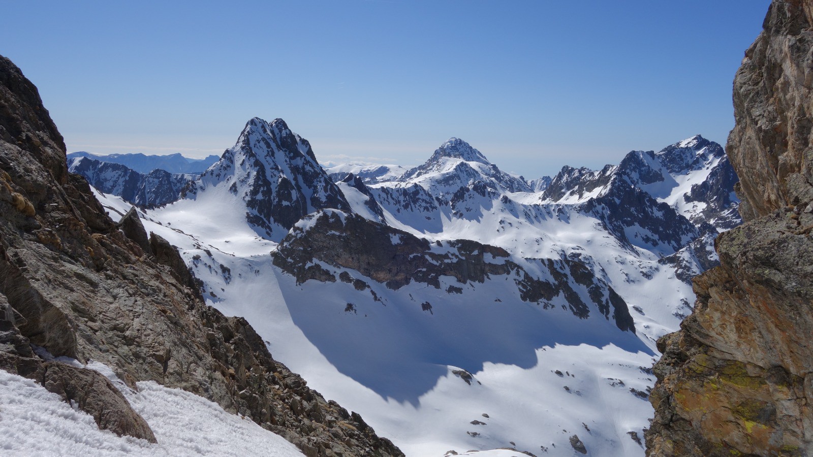
[[[813,200],[811,19],[808,0],[772,2],[734,80],[728,155],[746,220]]]

